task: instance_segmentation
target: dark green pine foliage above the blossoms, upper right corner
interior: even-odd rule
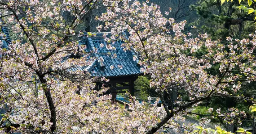
[[[246,8],[246,2],[225,2],[225,0],[199,0],[191,6],[197,11],[199,19],[190,25],[195,25],[197,33],[207,33],[212,40],[226,37],[248,38],[255,28],[253,8]],[[229,0],[228,0],[229,1]],[[237,8],[240,6],[240,8]],[[243,10],[240,10],[243,8]],[[248,33],[250,31],[251,33]]]

